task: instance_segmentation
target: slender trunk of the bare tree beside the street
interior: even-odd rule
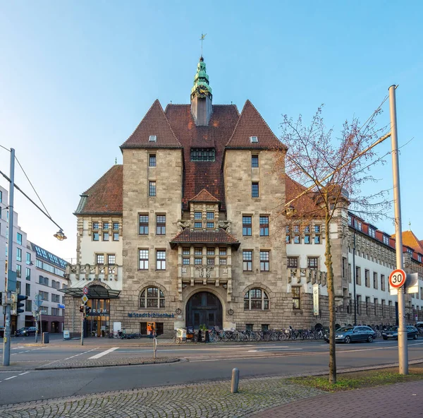
[[[336,346],[335,346],[335,289],[333,287],[333,266],[331,254],[331,231],[329,208],[325,215],[325,265],[327,270],[327,286],[329,298],[329,383],[336,383]]]

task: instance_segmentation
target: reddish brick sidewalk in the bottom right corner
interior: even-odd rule
[[[423,416],[423,381],[379,388],[326,393],[310,402],[295,401],[251,418],[405,418]]]

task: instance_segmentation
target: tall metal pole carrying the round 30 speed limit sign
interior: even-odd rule
[[[403,269],[403,231],[401,227],[400,167],[398,162],[398,136],[396,121],[395,85],[389,88],[389,114],[391,115],[391,144],[393,172],[393,209],[395,214],[396,268]],[[400,374],[408,374],[407,329],[405,328],[405,289],[398,289],[398,363]]]

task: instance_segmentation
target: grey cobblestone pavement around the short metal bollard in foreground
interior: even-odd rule
[[[283,378],[250,378],[240,382],[240,392],[230,392],[230,381],[165,386],[97,393],[25,402],[1,407],[2,418],[240,418],[323,393]]]

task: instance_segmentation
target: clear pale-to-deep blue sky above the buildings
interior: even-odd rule
[[[214,103],[250,99],[278,135],[282,114],[363,121],[397,89],[403,229],[423,239],[421,1],[20,1],[0,6],[0,144],[54,220],[17,193],[20,226],[75,257],[79,195],[114,164],[152,102],[188,103],[200,34]],[[388,102],[380,124],[388,122]],[[390,148],[380,145],[380,153]],[[8,153],[0,150],[1,170]],[[392,186],[391,161],[372,188]],[[22,172],[16,183],[30,196]],[[3,186],[6,181],[1,180]],[[377,224],[393,233],[387,220]]]

